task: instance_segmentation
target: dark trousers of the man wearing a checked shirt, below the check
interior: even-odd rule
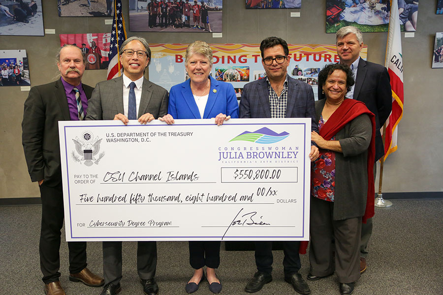
[[[285,276],[290,276],[300,270],[301,262],[298,249],[300,248],[299,241],[283,241],[283,270]],[[255,264],[258,271],[267,274],[272,273],[272,263],[274,257],[272,256],[272,241],[255,241]]]

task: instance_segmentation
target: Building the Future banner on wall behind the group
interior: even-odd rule
[[[262,79],[266,73],[261,64],[260,44],[210,44],[214,53],[211,75],[229,82],[240,98],[243,86]],[[149,80],[165,89],[188,79],[185,71],[185,52],[188,44],[150,44],[152,63]],[[314,89],[317,99],[318,72],[328,63],[339,61],[335,44],[288,44],[289,76],[303,80]],[[366,59],[368,47],[360,57]]]

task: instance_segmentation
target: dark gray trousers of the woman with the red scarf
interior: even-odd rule
[[[352,283],[360,278],[361,217],[333,220],[333,209],[333,202],[311,197],[310,273],[327,276],[335,270],[340,283]]]

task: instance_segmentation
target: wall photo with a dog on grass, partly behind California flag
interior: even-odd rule
[[[415,31],[418,1],[396,0],[402,31]],[[335,33],[345,26],[362,32],[387,31],[390,16],[389,0],[326,0],[326,32]]]

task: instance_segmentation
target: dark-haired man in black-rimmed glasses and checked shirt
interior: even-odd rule
[[[260,51],[266,78],[244,86],[240,118],[310,118],[311,130],[318,132],[312,87],[287,75],[289,49],[286,41],[278,37],[266,38],[260,44]],[[318,157],[315,145],[311,146],[309,157],[311,161]],[[283,242],[285,281],[296,292],[310,294],[308,284],[298,273],[301,267],[299,247],[299,241]],[[246,285],[246,292],[257,292],[271,282],[272,262],[272,241],[256,241],[255,264],[258,271]]]

